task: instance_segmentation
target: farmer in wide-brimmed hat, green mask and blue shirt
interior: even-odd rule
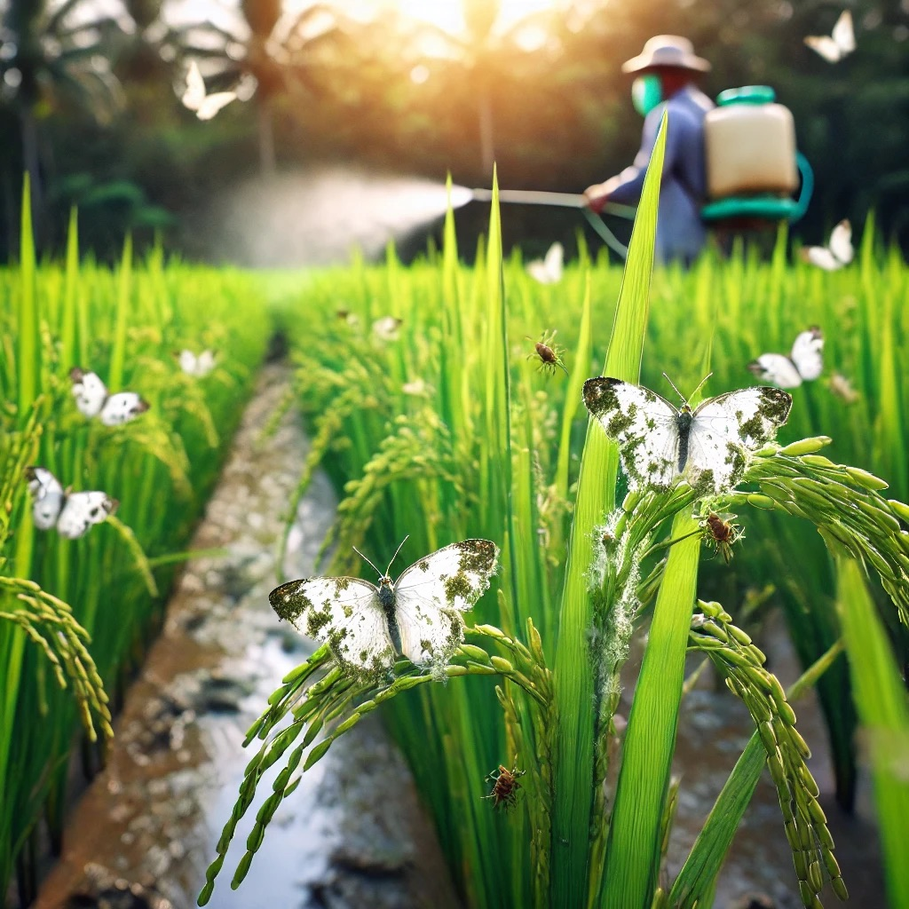
[[[640,201],[644,171],[656,142],[664,110],[669,111],[669,129],[660,187],[656,226],[656,258],[659,262],[690,264],[706,238],[700,207],[706,195],[704,175],[704,115],[714,103],[695,85],[710,64],[694,55],[694,46],[677,35],[657,35],[644,51],[622,65],[634,73],[632,101],[644,116],[641,150],[634,165],[605,183],[588,186],[584,192],[591,209],[599,213],[606,202],[634,205]]]

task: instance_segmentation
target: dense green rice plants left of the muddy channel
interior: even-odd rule
[[[128,238],[118,268],[80,263],[75,215],[65,262],[38,265],[29,211],[26,183],[19,264],[0,270],[0,895],[17,870],[24,904],[37,824],[47,819],[58,848],[79,726],[90,740],[111,734],[108,697],[122,694],[160,624],[173,556],[215,481],[269,329],[243,275],[165,263],[160,251],[135,263]],[[183,348],[216,351],[214,371],[186,375]],[[148,411],[123,425],[86,418],[74,366],[112,394],[141,393]],[[38,529],[33,466],[63,487],[104,491],[119,509],[77,539]]]

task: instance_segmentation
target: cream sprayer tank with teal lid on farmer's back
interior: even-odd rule
[[[767,85],[721,92],[704,118],[707,194],[789,195],[798,186],[795,125]]]

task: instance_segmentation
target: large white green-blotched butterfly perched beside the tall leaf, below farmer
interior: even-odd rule
[[[709,398],[693,411],[621,379],[584,383],[584,404],[618,444],[632,489],[667,489],[679,479],[700,494],[731,489],[748,455],[786,422],[792,403],[792,395],[761,385]]]

